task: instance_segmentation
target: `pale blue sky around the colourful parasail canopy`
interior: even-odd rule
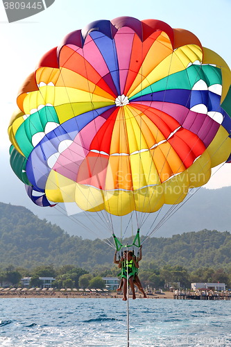
[[[8,164],[8,122],[16,106],[19,86],[40,57],[58,46],[67,33],[96,19],[124,15],[140,20],[160,19],[173,28],[192,31],[203,46],[216,51],[231,67],[230,13],[230,0],[55,0],[39,14],[9,24],[1,2],[0,201],[28,207],[24,185],[12,174]],[[231,164],[225,164],[214,174],[206,187],[227,185],[231,185]]]

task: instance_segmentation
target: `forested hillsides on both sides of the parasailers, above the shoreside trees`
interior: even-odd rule
[[[126,242],[126,241],[125,241]],[[112,266],[114,250],[100,239],[70,236],[22,206],[0,203],[0,264],[31,268],[73,264],[85,269]],[[216,230],[153,237],[143,247],[143,264],[231,268],[231,234]],[[142,266],[141,263],[141,266]]]

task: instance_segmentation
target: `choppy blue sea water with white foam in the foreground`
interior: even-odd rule
[[[130,346],[231,346],[231,301],[129,300]],[[121,298],[0,298],[0,346],[127,346]]]

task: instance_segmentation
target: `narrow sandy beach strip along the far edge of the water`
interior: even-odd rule
[[[137,293],[137,298],[142,298],[142,294]],[[150,299],[158,299],[158,298],[166,298],[173,299],[173,293],[170,291],[165,291],[162,294],[153,294],[147,295]],[[48,291],[38,291],[38,292],[0,292],[0,298],[122,298],[121,294],[117,294],[117,292],[113,291],[110,293],[83,293],[79,291],[52,291],[51,293]],[[132,296],[129,296],[132,298]]]

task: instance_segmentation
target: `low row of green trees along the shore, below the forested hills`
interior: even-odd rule
[[[231,289],[231,271],[202,267],[194,271],[185,269],[184,266],[165,265],[158,267],[154,262],[140,263],[139,278],[144,288],[169,289],[178,287],[190,289],[191,282],[224,282],[227,289]],[[101,288],[105,286],[103,277],[117,277],[117,266],[108,266],[108,269],[94,270],[92,272],[78,268],[74,265],[64,265],[55,268],[51,265],[40,265],[34,269],[15,268],[10,265],[0,270],[0,283],[8,281],[12,286],[22,287],[21,278],[31,277],[30,287],[40,287],[40,277],[53,277],[52,287],[61,288]]]

